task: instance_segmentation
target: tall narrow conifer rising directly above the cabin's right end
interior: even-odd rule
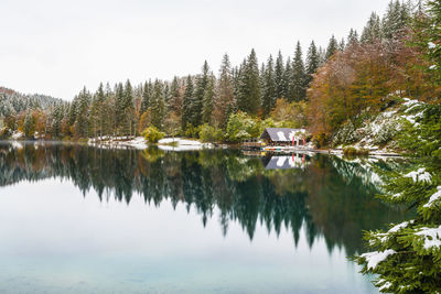
[[[302,101],[306,97],[306,76],[302,58],[302,47],[297,42],[294,59],[292,62],[291,92],[295,101]]]

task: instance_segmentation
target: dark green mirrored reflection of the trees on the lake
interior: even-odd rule
[[[301,228],[310,248],[324,238],[327,250],[363,250],[362,231],[399,221],[373,196],[378,193],[376,167],[384,161],[347,162],[335,156],[293,154],[252,157],[239,151],[164,152],[150,148],[104,150],[60,143],[0,145],[0,185],[49,177],[68,179],[86,196],[95,189],[129,204],[133,195],[159,205],[170,200],[194,207],[204,226],[220,214],[223,233],[237,221],[252,240],[257,224],[279,236],[286,227],[295,246]]]

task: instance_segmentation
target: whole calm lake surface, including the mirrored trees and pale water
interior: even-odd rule
[[[396,161],[0,144],[1,293],[377,293]]]

